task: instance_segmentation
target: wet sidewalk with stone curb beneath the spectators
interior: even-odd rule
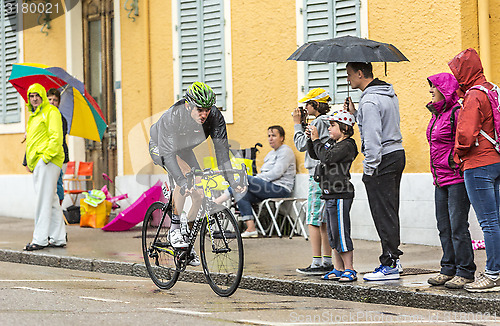
[[[31,241],[33,220],[0,217],[0,260],[104,273],[147,277],[141,253],[141,229],[104,232],[67,226],[68,246],[23,252]],[[303,276],[297,267],[310,264],[310,244],[304,238],[244,239],[245,269],[240,288],[297,296],[328,297],[369,303],[500,315],[500,293],[471,294],[431,287],[427,279],[439,271],[441,248],[403,244],[405,273],[398,281],[365,282],[362,275],[378,266],[380,244],[354,240],[357,282],[340,284]],[[484,270],[486,253],[475,251],[478,271]],[[410,274],[410,275],[408,275]],[[181,281],[203,282],[202,268],[188,267]]]

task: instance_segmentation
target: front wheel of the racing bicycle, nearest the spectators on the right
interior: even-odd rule
[[[243,275],[243,241],[238,223],[227,208],[203,220],[200,255],[212,290],[222,297],[233,294]]]

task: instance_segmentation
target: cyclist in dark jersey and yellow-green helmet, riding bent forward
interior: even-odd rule
[[[154,163],[163,167],[175,180],[173,193],[173,216],[169,230],[170,243],[175,248],[187,247],[187,221],[181,225],[180,214],[187,196],[192,206],[188,220],[196,217],[201,207],[203,190],[188,189],[186,172],[192,167],[199,169],[193,148],[212,138],[219,170],[232,169],[229,160],[226,122],[215,104],[215,93],[210,86],[195,82],[186,91],[184,98],[172,105],[161,118],[151,126],[149,153]],[[231,187],[242,192],[234,177],[225,175]],[[191,253],[191,258],[195,254]],[[197,260],[197,259],[195,259]],[[199,261],[196,262],[199,265]],[[191,262],[193,265],[193,261]]]

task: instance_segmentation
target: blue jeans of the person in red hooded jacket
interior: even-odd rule
[[[464,171],[465,187],[484,234],[486,273],[500,274],[500,163]]]

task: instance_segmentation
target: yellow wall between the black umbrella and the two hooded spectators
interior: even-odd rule
[[[449,72],[448,61],[467,47],[477,49],[475,1],[368,1],[369,38],[392,43],[410,62],[374,64],[376,77],[394,85],[399,97],[406,151],[405,173],[429,172],[425,105],[430,101],[427,77]],[[361,169],[356,167],[357,172]]]

